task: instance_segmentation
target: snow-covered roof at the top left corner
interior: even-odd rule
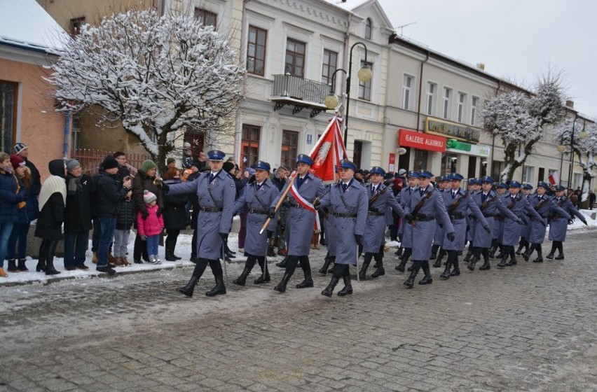
[[[0,43],[36,51],[60,50],[66,31],[35,0],[0,1]]]

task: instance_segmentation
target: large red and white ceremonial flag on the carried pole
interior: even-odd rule
[[[336,181],[338,179],[336,168],[340,167],[340,160],[347,157],[342,139],[341,122],[341,118],[334,116],[309,154],[313,160],[309,171],[323,181]]]

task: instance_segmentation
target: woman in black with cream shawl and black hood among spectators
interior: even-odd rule
[[[42,239],[39,246],[39,262],[36,271],[46,275],[60,274],[54,268],[56,245],[62,239],[64,205],[67,202],[67,175],[64,160],[50,160],[50,176],[43,182],[39,192],[39,216],[35,227],[35,237]]]

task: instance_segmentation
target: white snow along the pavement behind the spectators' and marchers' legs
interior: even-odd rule
[[[588,223],[587,226],[584,225],[578,218],[575,219],[574,223],[568,225],[568,230],[583,230],[585,228],[597,228],[597,220],[591,218],[591,216],[597,216],[597,211],[593,210],[581,210],[582,214],[586,218],[586,222]],[[547,235],[549,235],[549,227],[547,230]],[[546,241],[547,241],[546,235]],[[128,245],[128,260],[132,263],[132,250],[134,244],[135,234],[131,232],[130,235],[130,244]],[[386,239],[386,245],[390,246],[390,248],[396,248],[400,245],[397,241],[390,241]],[[232,251],[238,251],[238,233],[231,232],[230,237],[228,237],[228,246],[231,248]],[[89,244],[89,249],[91,249],[91,241]],[[116,276],[118,276],[119,272],[142,272],[142,271],[151,271],[151,270],[160,270],[165,268],[174,268],[181,265],[193,265],[192,262],[188,261],[189,256],[191,255],[191,235],[179,235],[176,251],[174,252],[179,257],[183,258],[182,260],[172,262],[172,261],[165,261],[164,260],[164,248],[160,246],[160,260],[162,260],[162,264],[160,265],[153,265],[144,262],[143,264],[131,264],[128,267],[116,267]],[[59,275],[50,275],[46,276],[43,272],[35,272],[35,267],[37,265],[37,260],[33,260],[32,258],[27,258],[27,268],[29,272],[7,272],[7,278],[0,278],[0,286],[12,286],[15,284],[24,284],[24,283],[50,283],[51,281],[55,281],[56,279],[90,279],[98,275],[107,275],[102,272],[97,272],[95,270],[95,264],[91,262],[92,253],[90,250],[87,251],[87,260],[85,260],[85,265],[89,267],[87,270],[76,269],[74,271],[67,271],[64,269],[64,259],[63,258],[54,258],[54,267],[60,271]],[[186,261],[185,261],[186,260]],[[242,253],[237,253],[235,259],[236,262],[244,262],[245,257]],[[272,262],[275,259],[270,259]],[[282,258],[278,257],[277,261],[282,260]],[[4,268],[6,271],[7,262],[4,262]],[[123,275],[127,276],[127,275]],[[128,275],[130,276],[130,275]]]

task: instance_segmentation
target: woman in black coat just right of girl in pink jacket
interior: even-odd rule
[[[180,183],[180,170],[176,167],[168,169],[164,180],[168,185]],[[164,228],[167,232],[164,245],[167,261],[181,259],[177,255],[174,255],[174,247],[176,246],[180,230],[186,229],[186,210],[184,207],[187,200],[188,195],[164,195]]]

